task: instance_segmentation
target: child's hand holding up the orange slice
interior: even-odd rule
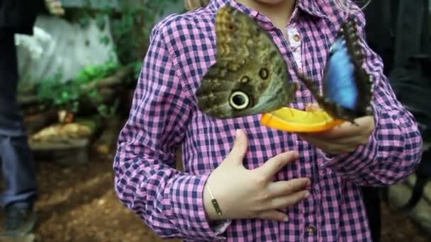
[[[360,117],[354,122],[357,125],[344,122],[329,131],[298,135],[327,154],[349,153],[366,144],[374,131],[373,116]]]

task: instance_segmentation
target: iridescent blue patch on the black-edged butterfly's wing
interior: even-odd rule
[[[323,79],[323,96],[342,108],[354,110],[359,99],[355,67],[346,40],[337,38],[332,44]]]

